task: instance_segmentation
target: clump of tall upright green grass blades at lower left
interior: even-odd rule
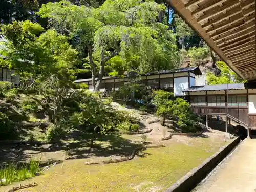
[[[10,162],[3,164],[0,168],[0,185],[8,185],[15,181],[23,181],[27,178],[35,176],[39,172],[40,160],[31,157],[29,163],[18,164]]]

